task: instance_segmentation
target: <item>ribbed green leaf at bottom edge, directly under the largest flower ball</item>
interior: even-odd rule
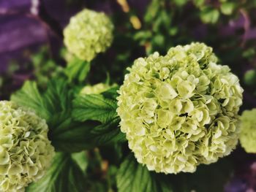
[[[121,164],[116,175],[118,192],[143,191],[167,192],[173,191],[162,174],[149,172],[146,166],[138,164],[133,155],[129,155]]]

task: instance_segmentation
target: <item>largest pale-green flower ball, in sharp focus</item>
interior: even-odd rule
[[[128,70],[117,112],[140,164],[165,174],[195,172],[236,147],[243,89],[211,47],[173,47]]]

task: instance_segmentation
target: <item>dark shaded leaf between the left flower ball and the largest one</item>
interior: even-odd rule
[[[67,120],[67,126],[63,124],[49,137],[56,150],[65,152],[88,150],[112,142],[126,141],[125,135],[118,128],[118,123],[118,118],[103,124],[93,120],[86,120],[83,123]]]

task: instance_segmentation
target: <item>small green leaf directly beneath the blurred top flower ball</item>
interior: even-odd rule
[[[69,82],[83,82],[86,79],[90,68],[91,64],[89,62],[82,61],[79,58],[73,58],[67,65],[64,72],[67,75]]]

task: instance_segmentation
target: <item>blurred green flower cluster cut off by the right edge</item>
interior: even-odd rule
[[[256,153],[256,109],[246,110],[241,115],[239,140],[247,153]]]

